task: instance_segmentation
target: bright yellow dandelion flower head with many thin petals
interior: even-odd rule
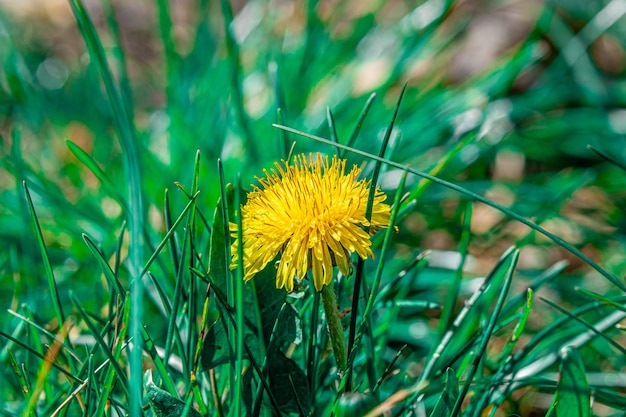
[[[247,281],[274,260],[280,252],[276,287],[293,290],[294,278],[313,271],[315,289],[321,291],[331,282],[333,265],[350,273],[350,254],[374,257],[371,230],[389,226],[386,196],[376,190],[371,221],[365,218],[370,181],[357,180],[355,165],[346,174],[346,161],[320,154],[297,155],[293,163],[274,164],[264,170],[248,201],[241,208],[244,279]],[[239,261],[237,225],[230,224],[235,238],[231,268]]]

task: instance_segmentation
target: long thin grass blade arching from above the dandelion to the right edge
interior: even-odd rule
[[[611,274],[610,272],[608,272],[607,270],[605,270],[604,268],[602,268],[600,265],[598,265],[597,262],[595,262],[593,259],[589,258],[587,255],[585,255],[584,253],[582,253],[580,250],[576,249],[573,245],[571,245],[570,243],[566,242],[563,238],[555,235],[554,233],[551,233],[549,231],[547,231],[546,229],[544,229],[543,227],[539,226],[538,224],[526,219],[525,217],[522,217],[521,215],[515,213],[514,211],[504,207],[503,205],[496,203],[495,201],[489,200],[486,197],[481,196],[480,194],[476,194],[470,190],[468,190],[467,188],[461,187],[460,185],[454,184],[452,182],[446,181],[446,180],[442,180],[441,178],[432,176],[430,174],[427,174],[423,171],[419,171],[413,168],[409,168],[405,165],[399,164],[397,162],[394,161],[390,161],[388,159],[373,155],[371,153],[368,152],[363,152],[359,149],[355,149],[355,148],[350,148],[341,144],[337,144],[334,143],[332,141],[329,141],[328,139],[324,139],[321,138],[319,136],[315,136],[315,135],[311,135],[296,129],[292,129],[290,127],[287,126],[282,126],[282,125],[277,125],[274,124],[274,127],[278,128],[278,129],[283,129],[286,130],[287,132],[291,132],[294,133],[296,135],[300,135],[312,140],[315,140],[317,142],[320,143],[325,143],[327,145],[332,145],[332,146],[336,146],[338,148],[341,149],[345,149],[349,152],[353,152],[357,155],[363,156],[365,158],[369,158],[369,159],[373,159],[382,163],[385,163],[389,166],[392,166],[394,168],[398,168],[404,171],[408,171],[409,173],[413,174],[413,175],[417,175],[418,177],[422,177],[422,178],[426,178],[436,184],[442,185],[446,188],[449,188],[451,190],[454,190],[460,194],[466,195],[470,198],[472,198],[473,200],[476,201],[480,201],[481,203],[484,203],[504,214],[506,214],[507,216],[519,221],[520,223],[530,227],[531,229],[536,230],[537,232],[541,233],[542,235],[546,236],[547,238],[549,238],[550,240],[552,240],[554,243],[556,243],[557,245],[561,246],[562,248],[566,249],[568,252],[576,255],[578,258],[582,259],[583,261],[585,261],[589,266],[591,266],[593,269],[595,269],[598,273],[600,273],[600,275],[602,275],[604,278],[606,278],[609,282],[611,282],[613,285],[615,285],[617,288],[619,288],[620,290],[626,292],[626,285],[624,285],[623,283],[621,283],[613,274]]]

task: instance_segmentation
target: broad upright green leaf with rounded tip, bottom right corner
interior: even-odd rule
[[[561,349],[561,373],[556,387],[556,417],[591,417],[589,383],[583,361],[570,346]]]

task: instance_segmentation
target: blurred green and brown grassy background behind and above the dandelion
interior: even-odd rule
[[[345,144],[372,93],[354,146],[377,153],[406,82],[389,159],[436,169],[624,276],[626,172],[619,164],[626,165],[626,2],[84,4],[134,121],[149,244],[165,233],[164,190],[173,213],[187,203],[175,183],[190,189],[196,150],[199,206],[210,218],[220,193],[218,158],[227,181],[241,173],[249,184],[285,157],[291,141],[297,152],[332,152],[272,123],[330,138],[330,109]],[[81,234],[114,261],[127,178],[110,101],[68,2],[0,1],[0,56],[0,328],[10,332],[15,319],[7,309],[31,311],[40,323],[52,319],[22,181],[60,294],[72,289],[96,310],[108,294],[94,293],[103,278]],[[91,155],[113,189],[67,140]],[[380,184],[393,195],[398,179],[388,169]],[[409,178],[408,187],[417,181]],[[394,256],[400,268],[420,250],[435,250],[430,272],[415,284],[418,292],[429,290],[430,300],[441,301],[441,271],[454,269],[446,251],[458,247],[464,200],[431,186],[403,213]],[[474,207],[471,233],[470,277],[485,275],[508,246],[522,242],[521,281],[514,286],[527,285],[525,274],[566,260],[565,277],[543,296],[572,307],[582,299],[575,285],[616,293],[563,248],[485,205]],[[555,315],[538,306],[529,326],[541,328]],[[622,358],[609,367],[624,366]]]

